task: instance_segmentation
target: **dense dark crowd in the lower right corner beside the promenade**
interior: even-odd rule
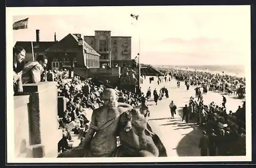
[[[197,117],[198,124],[205,129],[199,143],[201,156],[245,155],[245,102],[235,113],[227,113],[214,102],[204,105],[191,100],[189,107],[190,116]]]

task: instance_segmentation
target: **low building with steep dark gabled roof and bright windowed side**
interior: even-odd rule
[[[81,34],[68,34],[46,50],[50,69],[99,68],[98,54]]]

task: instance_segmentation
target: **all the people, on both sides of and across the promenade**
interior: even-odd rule
[[[17,46],[13,48],[13,91],[14,95],[23,92],[23,84],[38,83],[42,81],[55,81],[58,97],[65,97],[66,110],[59,112],[59,129],[63,130],[62,139],[58,143],[58,152],[64,152],[71,148],[68,141],[72,140],[72,134],[80,134],[81,139],[86,136],[89,129],[90,121],[87,118],[87,110],[95,110],[104,104],[102,97],[104,84],[96,85],[92,79],[86,79],[74,76],[68,79],[69,71],[61,70],[45,70],[47,58],[44,55],[36,57],[35,61],[24,64],[26,51],[23,47]],[[185,81],[187,90],[189,85],[201,85],[197,87],[196,98],[190,98],[188,105],[183,108],[182,121],[197,121],[205,131],[199,142],[202,156],[229,156],[229,155],[245,155],[245,101],[242,107],[238,107],[236,112],[226,111],[226,98],[223,96],[222,106],[218,106],[215,102],[209,105],[204,104],[202,94],[206,94],[207,90],[221,90],[244,97],[245,79],[231,77],[228,75],[210,74],[200,71],[188,71],[180,69],[171,69],[167,72],[169,76],[159,76],[158,84],[168,82],[170,79],[177,80],[177,86],[180,81]],[[145,76],[142,76],[145,79]],[[153,79],[154,80],[154,79]],[[150,79],[150,83],[152,78]],[[225,81],[225,85],[223,85]],[[141,88],[140,88],[141,89]],[[127,90],[118,90],[115,88],[118,102],[123,102],[132,107],[146,106],[145,101],[151,98],[151,88],[149,87],[146,95],[141,90],[134,94]],[[167,88],[162,87],[159,93],[155,89],[153,91],[154,101],[162,100],[163,96],[169,97]],[[142,103],[142,104],[141,104]],[[170,113],[174,118],[176,114],[176,105],[172,101],[169,104]],[[147,108],[148,109],[148,108]],[[236,146],[236,148],[233,148]]]

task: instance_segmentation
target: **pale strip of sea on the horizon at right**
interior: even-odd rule
[[[209,73],[215,73],[215,74],[222,74],[222,71],[224,71],[224,74],[227,74],[227,75],[245,77],[245,67],[241,65],[189,65],[189,66],[163,65],[163,66],[190,69],[190,70],[208,71]]]

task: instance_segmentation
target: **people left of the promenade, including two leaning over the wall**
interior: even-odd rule
[[[63,130],[62,139],[58,143],[58,152],[69,149],[68,141],[72,134],[83,137],[89,128],[86,112],[103,105],[102,92],[104,85],[97,86],[92,79],[81,79],[79,76],[69,78],[67,69],[46,70],[48,59],[38,55],[35,61],[24,63],[26,51],[22,46],[13,47],[13,91],[14,95],[23,92],[23,84],[55,81],[58,97],[65,97],[66,110],[58,113],[59,128]],[[138,106],[141,94],[115,88],[119,101]]]

